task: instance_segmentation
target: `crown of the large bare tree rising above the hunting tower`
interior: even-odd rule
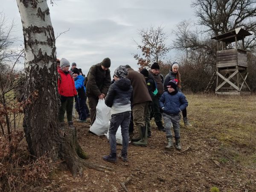
[[[216,36],[243,27],[253,32],[246,38],[245,48],[256,48],[256,0],[192,0],[192,7],[205,31]]]

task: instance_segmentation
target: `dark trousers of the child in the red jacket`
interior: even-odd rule
[[[67,111],[67,121],[72,121],[72,110],[73,110],[74,97],[66,97],[64,101],[61,102],[61,107],[58,113],[58,121],[64,122],[64,114]]]

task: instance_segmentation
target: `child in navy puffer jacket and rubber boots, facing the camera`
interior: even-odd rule
[[[181,150],[180,146],[180,111],[188,106],[188,101],[183,93],[177,90],[177,79],[173,79],[167,83],[167,91],[165,91],[159,99],[160,108],[163,110],[163,120],[166,128],[166,138],[168,145],[165,148],[174,148],[172,143],[171,125],[175,134],[175,147]]]

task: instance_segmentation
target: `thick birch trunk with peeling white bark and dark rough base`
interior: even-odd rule
[[[64,160],[73,175],[82,174],[86,155],[77,142],[76,129],[58,125],[55,37],[47,0],[17,0],[25,44],[25,109],[23,128],[29,152]],[[62,133],[62,134],[61,134]]]

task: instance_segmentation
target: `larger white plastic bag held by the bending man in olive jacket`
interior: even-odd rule
[[[96,106],[96,119],[90,127],[90,131],[96,135],[104,135],[108,132],[111,108],[105,104],[105,99],[99,99]]]

